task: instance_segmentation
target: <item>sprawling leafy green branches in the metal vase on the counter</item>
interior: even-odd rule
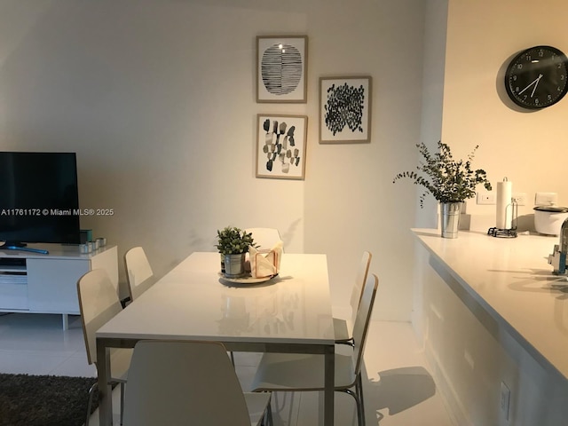
[[[450,146],[438,141],[438,153],[430,154],[422,142],[416,145],[423,161],[416,166],[416,171],[398,173],[392,183],[398,179],[409,178],[414,185],[422,185],[425,191],[420,195],[420,207],[424,207],[424,198],[427,193],[439,202],[461,202],[476,196],[476,186],[483,184],[487,191],[491,191],[491,183],[487,180],[485,170],[471,169],[471,162],[479,146],[475,146],[468,155],[467,161],[454,160]],[[422,173],[422,174],[420,174]]]

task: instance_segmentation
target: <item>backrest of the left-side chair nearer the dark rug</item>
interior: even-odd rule
[[[93,269],[77,281],[79,311],[89,364],[97,363],[96,333],[109,319],[122,311],[108,274],[104,269]]]

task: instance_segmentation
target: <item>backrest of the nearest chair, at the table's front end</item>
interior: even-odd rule
[[[247,404],[221,343],[140,341],[124,400],[124,426],[250,425]]]

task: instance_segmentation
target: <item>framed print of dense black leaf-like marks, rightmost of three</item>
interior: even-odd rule
[[[370,142],[372,91],[369,75],[319,77],[319,143]]]

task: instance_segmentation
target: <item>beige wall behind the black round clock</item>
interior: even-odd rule
[[[519,216],[533,214],[537,191],[556,192],[559,204],[568,204],[563,124],[568,102],[519,112],[503,91],[504,67],[518,51],[539,44],[568,52],[566,12],[562,0],[538,6],[517,0],[449,2],[442,137],[461,156],[478,144],[474,166],[484,168],[493,183],[508,177],[513,192],[528,194]],[[469,201],[468,212],[495,225],[495,206]],[[485,222],[479,227],[486,231]]]

